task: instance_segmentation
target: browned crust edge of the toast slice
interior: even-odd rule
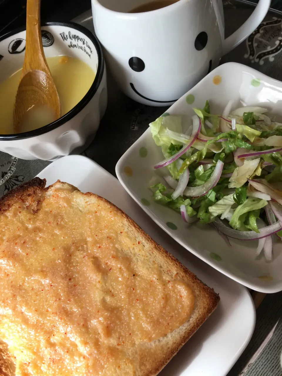
[[[0,215],[5,211],[9,210],[12,205],[18,202],[22,202],[26,208],[31,210],[33,213],[36,213],[40,210],[41,202],[44,200],[45,195],[48,191],[52,191],[56,188],[72,188],[72,190],[79,191],[76,187],[71,186],[68,183],[60,182],[58,180],[53,185],[45,188],[46,180],[39,179],[38,177],[30,180],[29,182],[23,183],[14,190],[10,191],[8,194],[0,199]],[[177,340],[173,339],[172,341],[169,339],[165,339],[163,344],[157,344],[156,350],[152,351],[153,359],[147,358],[147,344],[141,344],[136,346],[136,354],[135,358],[139,364],[140,371],[138,372],[139,376],[155,376],[158,374],[162,368],[170,361],[170,359],[178,352],[178,350],[186,343],[186,341],[199,329],[199,327],[203,324],[203,322],[209,317],[209,315],[214,311],[216,308],[220,298],[218,294],[214,292],[213,289],[206,286],[202,281],[200,281],[195,274],[191,273],[185,266],[183,266],[173,255],[168,253],[164,248],[159,246],[149,235],[147,235],[141,227],[138,226],[127,214],[125,214],[121,209],[117,206],[109,202],[108,200],[104,199],[103,197],[98,196],[94,193],[80,193],[82,196],[87,197],[88,199],[96,199],[100,202],[103,202],[105,205],[109,206],[109,208],[115,209],[118,214],[121,215],[124,222],[128,224],[136,237],[142,238],[144,243],[147,243],[150,249],[153,250],[155,259],[161,263],[162,260],[166,260],[167,263],[171,265],[171,268],[174,270],[176,269],[179,273],[179,276],[187,282],[190,287],[193,289],[197,296],[201,297],[201,309],[199,309],[199,313],[195,315],[193,319],[193,323],[185,327],[185,330],[180,333],[177,337]],[[0,353],[1,356],[1,353]],[[4,373],[5,367],[2,365],[0,359],[0,374],[5,375]],[[145,364],[143,366],[143,364]],[[12,373],[7,374],[7,376],[12,376]]]

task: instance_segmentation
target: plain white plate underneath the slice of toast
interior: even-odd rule
[[[179,353],[162,376],[225,376],[250,341],[255,326],[253,300],[245,287],[209,267],[183,249],[139,208],[114,176],[83,156],[66,156],[38,175],[47,184],[57,179],[94,192],[123,209],[157,243],[220,295],[220,303]]]

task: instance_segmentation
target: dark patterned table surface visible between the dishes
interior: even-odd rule
[[[24,24],[25,1],[14,1],[15,7],[18,7],[18,13],[16,17],[12,18],[7,10],[11,8],[7,8],[7,4],[11,0],[0,0],[0,34]],[[46,6],[46,3],[46,1],[42,0],[42,12],[45,14],[45,19],[49,16],[46,19],[48,21],[68,21],[90,7],[89,0],[80,0],[79,4],[76,0],[59,0],[61,7],[52,12],[50,11],[51,5],[58,3],[58,0],[56,2],[49,0],[48,6]],[[253,4],[227,0],[223,2],[223,5],[226,24],[225,33],[228,36],[249,17],[253,11]],[[282,1],[274,0],[272,5],[277,9],[282,9]],[[3,10],[5,11],[5,9],[7,17],[4,17],[5,12]],[[84,12],[76,17],[74,21],[94,31],[91,11]],[[253,46],[256,54],[268,51],[264,58],[261,58],[257,63],[253,62],[248,56],[247,41],[244,41],[236,49],[224,56],[221,59],[221,64],[228,61],[240,62],[270,77],[282,80],[282,70],[280,70],[282,44],[279,43],[282,37],[282,13],[270,10],[264,22],[260,25],[260,30],[261,36],[257,41],[254,41]],[[278,49],[278,53],[275,51],[274,54],[271,50],[277,45],[279,45],[280,50]],[[115,176],[115,164],[120,156],[147,129],[150,121],[155,120],[167,108],[140,105],[124,96],[109,74],[107,79],[108,108],[94,141],[83,152],[83,155],[93,159]],[[105,147],[107,150],[111,150],[111,153],[105,155]],[[21,182],[36,176],[49,163],[46,161],[24,161],[0,152],[0,196],[15,188]],[[230,370],[228,376],[282,376],[282,368],[280,366],[282,292],[267,296],[252,292],[252,296],[257,308],[255,331],[252,340],[232,370]]]

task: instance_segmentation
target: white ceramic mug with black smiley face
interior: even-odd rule
[[[179,0],[128,13],[153,0],[92,0],[94,29],[120,89],[137,102],[171,105],[261,23],[270,0],[224,39],[222,0]]]

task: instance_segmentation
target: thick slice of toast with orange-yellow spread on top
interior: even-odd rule
[[[103,197],[45,183],[0,199],[0,374],[158,374],[218,294]]]

